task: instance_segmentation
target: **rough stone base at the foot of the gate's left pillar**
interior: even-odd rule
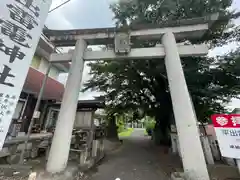
[[[66,168],[64,172],[51,174],[49,172],[40,172],[36,180],[74,180],[79,173],[77,166]]]

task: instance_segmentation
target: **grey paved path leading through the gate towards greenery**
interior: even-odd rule
[[[167,180],[158,167],[143,129],[135,129],[120,149],[108,155],[88,180]]]

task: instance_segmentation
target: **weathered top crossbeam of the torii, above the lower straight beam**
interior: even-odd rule
[[[218,14],[199,18],[168,21],[164,24],[134,25],[129,27],[131,39],[159,39],[171,28],[177,40],[201,38],[205,30],[216,20]],[[114,27],[96,29],[74,29],[74,30],[44,30],[44,34],[56,46],[75,46],[78,39],[84,39],[88,45],[98,45],[113,42],[115,33],[118,30]],[[191,33],[189,33],[191,32]]]

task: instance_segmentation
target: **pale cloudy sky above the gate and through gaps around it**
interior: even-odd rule
[[[66,0],[53,0],[52,8],[65,2]],[[50,29],[85,29],[85,28],[102,28],[114,26],[113,14],[109,9],[110,3],[116,0],[71,0],[62,8],[57,9],[49,14],[46,25]],[[233,9],[240,10],[240,0],[234,0]],[[240,19],[236,21],[240,24]],[[235,48],[236,44],[222,47],[210,51],[210,55],[222,54]],[[85,67],[83,82],[86,81],[89,68]],[[65,81],[66,76],[61,76],[61,81]],[[96,92],[81,93],[80,99],[92,99],[98,95]],[[240,100],[234,100],[231,107],[240,107]]]

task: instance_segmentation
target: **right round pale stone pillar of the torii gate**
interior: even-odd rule
[[[177,43],[172,32],[162,37],[165,65],[185,174],[193,180],[209,180],[197,119],[188,92]]]

